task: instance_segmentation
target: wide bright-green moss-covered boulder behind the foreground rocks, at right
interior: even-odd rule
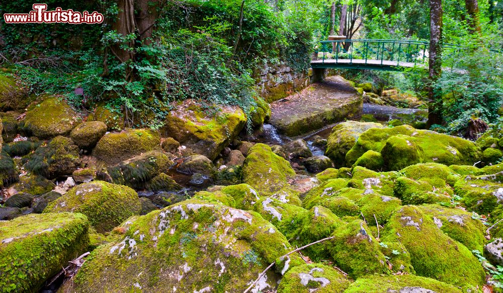
[[[393,128],[371,128],[363,132],[346,154],[348,164],[354,164],[365,152],[381,153],[389,170],[400,170],[417,163],[473,165],[480,158],[480,149],[472,141],[418,130],[409,125]]]

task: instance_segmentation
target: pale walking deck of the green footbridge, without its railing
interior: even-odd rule
[[[363,68],[363,69],[382,69],[382,70],[400,70],[400,67],[414,67],[414,65],[424,67],[425,64],[374,60],[374,59],[325,59],[311,61],[312,68]]]

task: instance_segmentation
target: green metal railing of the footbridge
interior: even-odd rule
[[[393,64],[394,66],[401,66],[401,64],[405,65],[404,63],[407,63],[406,65],[411,67],[416,64],[428,63],[429,47],[429,42],[424,41],[348,39],[321,41],[318,52],[322,52],[322,63],[325,60],[334,59],[336,63],[341,60],[341,63],[352,64],[354,63],[353,60],[358,60],[355,63],[359,65],[389,66]],[[444,44],[443,48],[445,59],[452,59],[453,61],[463,50],[463,46],[455,44]]]

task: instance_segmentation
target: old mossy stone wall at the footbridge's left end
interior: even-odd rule
[[[257,87],[262,98],[271,103],[304,89],[324,75],[323,69],[309,69],[306,73],[296,72],[286,64],[264,64],[258,72]]]

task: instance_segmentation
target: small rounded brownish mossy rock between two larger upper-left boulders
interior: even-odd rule
[[[101,121],[84,122],[71,130],[70,137],[80,149],[91,150],[107,129],[107,125]]]

